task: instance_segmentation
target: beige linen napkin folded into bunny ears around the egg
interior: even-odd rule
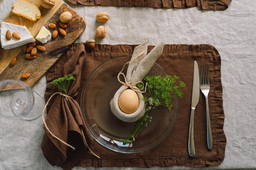
[[[141,118],[142,115],[145,113],[145,107],[144,107],[144,101],[143,101],[143,95],[144,91],[141,91],[141,88],[138,88],[137,84],[143,84],[142,80],[144,77],[148,74],[151,67],[157,60],[157,58],[162,54],[164,43],[159,42],[154,47],[150,53],[147,54],[148,50],[148,42],[149,39],[146,40],[143,44],[138,45],[132,54],[132,58],[129,62],[126,64],[128,65],[126,75],[122,73],[124,70],[124,67],[126,64],[124,64],[124,67],[119,72],[117,79],[118,81],[123,84],[117,92],[115,93],[113,99],[110,101],[110,108],[112,113],[120,120],[125,122],[134,122]],[[124,76],[124,82],[120,80],[120,75]],[[119,97],[121,93],[123,93],[126,89],[131,88],[133,91],[135,91],[139,98],[139,106],[137,110],[134,113],[126,114],[124,113],[120,108],[118,104]]]

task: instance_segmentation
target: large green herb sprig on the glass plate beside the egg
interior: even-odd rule
[[[166,75],[162,77],[160,75],[147,75],[144,80],[148,83],[143,89],[145,94],[143,100],[145,102],[144,115],[139,119],[135,128],[132,130],[130,136],[126,139],[115,138],[118,141],[123,142],[123,144],[129,144],[135,141],[135,138],[139,136],[140,132],[152,121],[152,113],[158,106],[164,106],[171,110],[172,99],[174,97],[183,97],[183,92],[180,88],[186,86],[185,83],[179,82],[177,80],[179,77]],[[143,88],[143,84],[139,84],[138,88]]]

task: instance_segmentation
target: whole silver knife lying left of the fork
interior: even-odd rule
[[[189,125],[189,155],[191,157],[195,156],[195,145],[194,145],[194,116],[195,116],[195,107],[199,101],[199,71],[198,63],[194,61],[194,75],[193,75],[193,90],[192,90],[192,102],[191,102],[191,117]]]

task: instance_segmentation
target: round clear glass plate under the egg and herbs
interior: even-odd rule
[[[157,108],[152,122],[144,128],[139,137],[131,144],[123,145],[113,139],[126,138],[136,122],[127,123],[119,120],[110,110],[110,100],[120,88],[117,75],[131,56],[115,57],[99,65],[88,77],[81,95],[81,110],[92,137],[106,148],[121,153],[136,153],[148,150],[159,144],[173,128],[178,114],[178,98],[173,99],[173,108]],[[123,71],[126,73],[127,68]],[[154,64],[150,74],[162,75],[166,72]]]

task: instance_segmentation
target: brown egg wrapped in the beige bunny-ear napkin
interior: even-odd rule
[[[139,97],[135,91],[127,89],[119,96],[118,105],[122,112],[134,113],[139,107]]]

